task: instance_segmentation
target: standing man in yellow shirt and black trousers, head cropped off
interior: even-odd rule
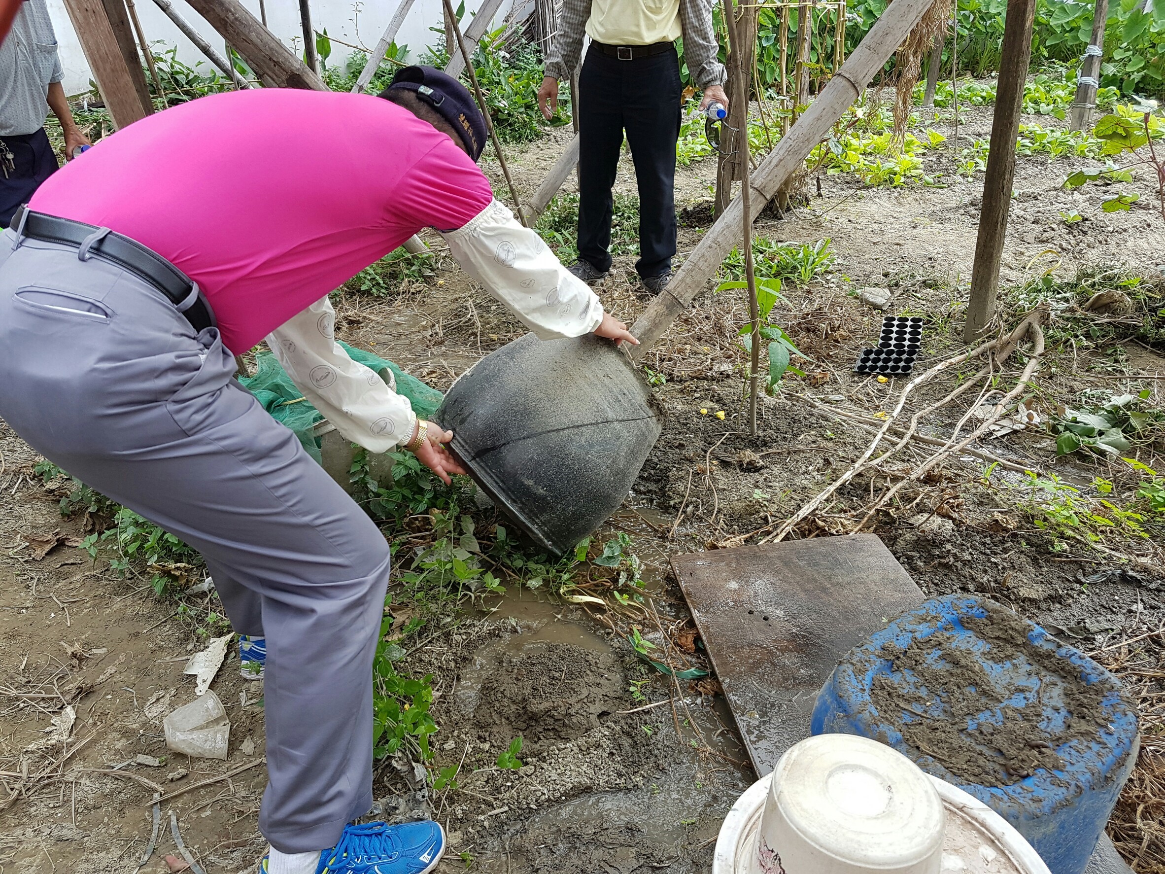
[[[671,279],[676,254],[676,141],[683,85],[675,42],[704,89],[704,108],[726,108],[725,68],[712,26],[712,0],[564,0],[558,36],[546,52],[538,105],[549,119],[558,83],[578,66],[584,36],[591,48],[579,73],[579,260],[584,282],[610,270],[612,189],[623,132],[640,189],[640,260],[635,269],[651,294]]]

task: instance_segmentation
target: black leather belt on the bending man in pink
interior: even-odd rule
[[[214,324],[198,284],[136,240],[106,227],[94,227],[84,221],[33,212],[27,206],[16,210],[8,226],[19,235],[33,240],[76,246],[83,261],[92,255],[129,270],[165,295],[196,331]]]

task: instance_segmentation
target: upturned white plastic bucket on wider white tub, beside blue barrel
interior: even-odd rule
[[[841,738],[860,740],[877,749],[836,740]],[[805,745],[810,745],[810,752],[814,752],[816,746],[817,754],[804,755]],[[829,754],[821,754],[821,749]],[[887,754],[905,762],[922,780],[903,778],[897,767],[888,767]],[[838,774],[845,773],[847,763],[889,777],[884,787],[887,794],[910,794],[912,797],[901,799],[896,810],[889,799],[883,799],[887,803],[880,809],[880,792],[859,776],[850,778],[854,797],[846,798],[839,792],[846,783],[838,780]],[[775,785],[776,781],[790,782]],[[932,788],[930,791],[923,788],[927,783]],[[790,808],[788,802],[795,794],[803,798],[806,795],[814,797]],[[916,810],[933,823],[926,798],[933,799],[935,795],[942,809],[937,851],[931,843],[930,826],[925,824],[898,832],[897,837],[902,838],[898,847],[892,831],[887,832],[885,838],[871,838],[877,834],[880,823],[883,826],[892,824],[908,810]],[[842,798],[840,804],[839,797]],[[847,820],[849,824],[845,825]],[[880,860],[890,865],[880,867]],[[800,741],[785,752],[772,774],[749,787],[725,818],[712,861],[712,874],[887,874],[934,869],[941,874],[1050,874],[1019,832],[986,804],[942,780],[923,774],[890,747],[841,734],[822,734]]]

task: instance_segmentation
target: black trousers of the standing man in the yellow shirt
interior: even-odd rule
[[[671,269],[676,254],[676,141],[679,139],[676,50],[620,61],[593,47],[579,73],[579,258],[610,269],[610,218],[623,132],[640,189],[643,279]]]

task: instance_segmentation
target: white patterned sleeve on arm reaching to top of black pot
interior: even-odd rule
[[[461,268],[539,338],[581,337],[602,323],[599,296],[497,200],[440,234]]]

